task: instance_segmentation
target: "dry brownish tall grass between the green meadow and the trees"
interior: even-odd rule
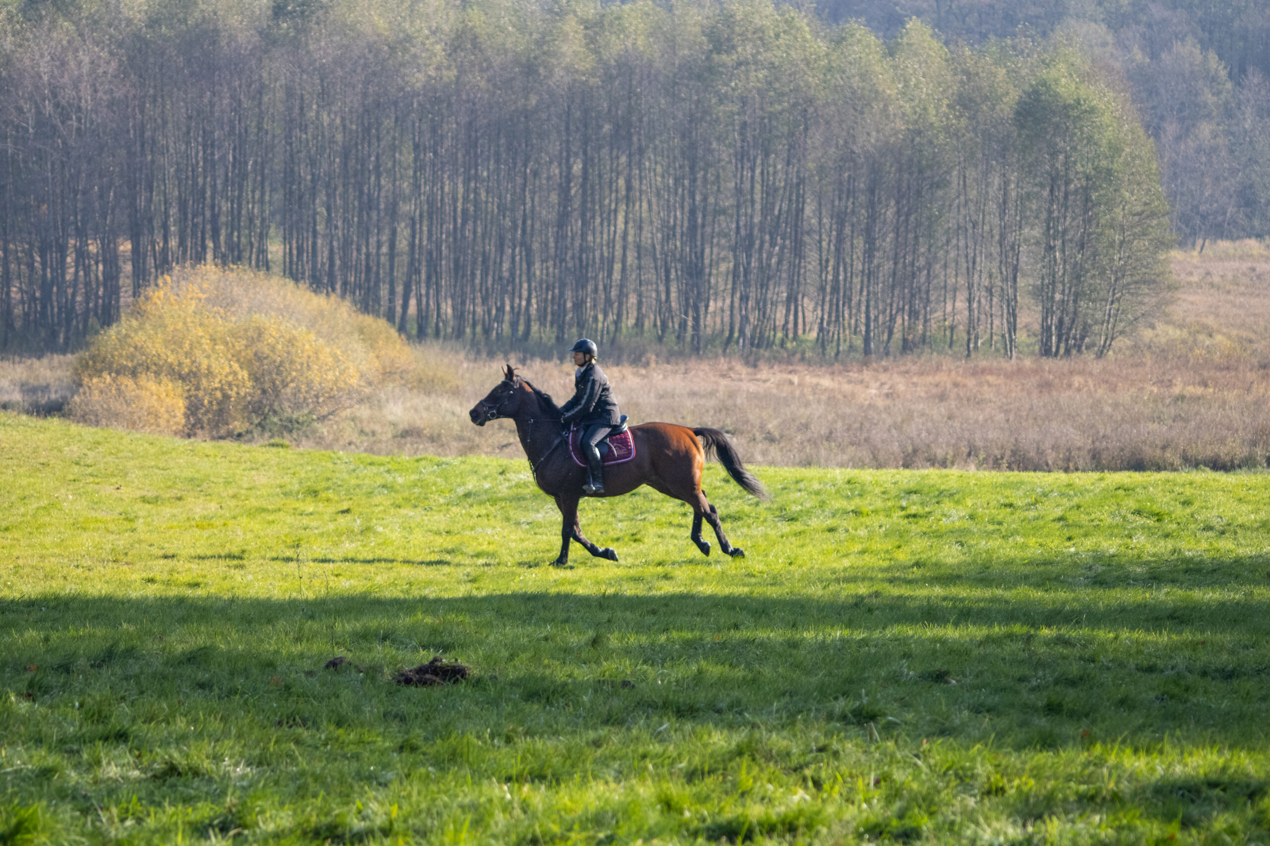
[[[1175,254],[1173,272],[1179,292],[1168,318],[1102,361],[926,357],[747,366],[710,359],[606,370],[634,422],[723,428],[758,464],[1265,467],[1270,252],[1255,243],[1210,244],[1201,257]],[[467,419],[467,409],[500,379],[500,359],[443,346],[413,354],[403,379],[293,442],[377,453],[521,455],[511,423],[478,428]],[[559,361],[513,363],[558,400],[572,393],[573,368],[563,352]],[[0,400],[6,385],[24,379],[20,367],[33,366],[0,366]]]

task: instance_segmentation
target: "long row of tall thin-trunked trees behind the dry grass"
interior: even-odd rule
[[[417,337],[1106,353],[1171,243],[1097,62],[770,0],[10,6],[0,344],[180,263]]]

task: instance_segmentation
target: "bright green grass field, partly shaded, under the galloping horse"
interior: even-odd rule
[[[0,414],[0,842],[1270,843],[1270,476],[757,471]]]

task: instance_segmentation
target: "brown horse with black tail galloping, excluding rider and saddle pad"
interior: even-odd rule
[[[611,547],[596,546],[583,537],[578,526],[578,502],[583,497],[582,485],[587,479],[584,467],[569,455],[569,445],[560,422],[560,409],[551,398],[516,375],[508,365],[503,381],[485,399],[469,412],[472,423],[485,426],[490,420],[509,418],[516,420],[525,457],[530,460],[533,480],[547,495],[554,497],[564,518],[560,535],[560,558],[552,564],[563,567],[569,561],[569,541],[575,540],[596,558],[617,560]],[[740,462],[735,447],[719,429],[696,428],[673,423],[644,423],[631,427],[635,457],[625,464],[605,467],[605,493],[602,497],[620,497],[640,485],[674,497],[692,506],[692,542],[704,554],[710,554],[710,541],[701,537],[701,522],[710,523],[724,553],[734,558],[744,551],[728,542],[719,523],[719,512],[706,500],[701,490],[701,469],[706,456],[714,453],[738,485],[745,492],[767,499],[763,484]],[[700,438],[700,442],[697,441]]]

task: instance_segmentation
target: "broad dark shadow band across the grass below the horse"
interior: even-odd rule
[[[146,683],[161,676],[188,691],[183,701],[232,700],[260,719],[291,718],[283,727],[329,719],[316,704],[354,672],[323,669],[339,653],[385,714],[405,714],[400,722],[417,728],[431,719],[419,699],[441,697],[462,702],[465,730],[516,723],[551,732],[561,719],[574,729],[810,719],[1016,748],[1080,747],[1091,737],[1265,743],[1270,663],[1257,644],[1270,625],[1266,602],[1177,612],[1149,601],[1081,608],[1078,598],[51,594],[0,603],[10,631],[0,667],[4,686],[32,701],[70,697],[97,676],[121,695],[163,696]],[[391,683],[396,667],[438,653],[471,664],[479,683]],[[281,699],[265,702],[273,694]],[[272,710],[279,702],[282,716]],[[359,709],[344,722],[372,719]]]

